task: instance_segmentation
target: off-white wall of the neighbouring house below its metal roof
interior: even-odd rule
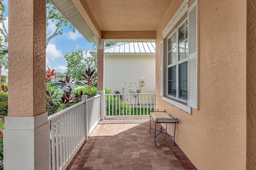
[[[156,92],[155,55],[110,55],[105,56],[105,87],[112,93]],[[145,85],[140,86],[140,78]],[[124,90],[122,89],[124,88]]]

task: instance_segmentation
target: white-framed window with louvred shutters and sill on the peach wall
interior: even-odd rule
[[[197,27],[197,1],[188,8],[184,0],[166,25],[160,43],[162,100],[188,113],[191,107],[198,109]]]

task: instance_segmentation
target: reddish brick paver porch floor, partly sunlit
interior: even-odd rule
[[[158,135],[155,146],[149,129],[149,119],[100,121],[67,170],[196,170],[171,137]]]

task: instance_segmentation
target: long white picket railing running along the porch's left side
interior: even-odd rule
[[[66,169],[88,134],[97,125],[100,95],[48,116],[50,124],[50,170]]]

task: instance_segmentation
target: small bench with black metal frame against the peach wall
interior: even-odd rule
[[[155,121],[155,129],[151,127],[151,118]],[[166,129],[163,129],[162,127],[160,128],[160,130],[156,129],[156,123],[166,123]],[[169,135],[167,133],[167,123],[175,123],[174,135],[173,136]],[[149,130],[149,133],[151,132],[151,129],[153,129],[155,131],[155,145],[156,145],[156,137],[158,135],[160,135],[161,133],[163,133],[165,135],[168,135],[170,137],[173,137],[174,138],[174,145],[176,145],[176,143],[175,143],[176,124],[179,124],[179,120],[174,119],[170,115],[168,115],[166,113],[166,110],[150,111],[150,130]],[[156,135],[156,131],[159,132],[157,135]],[[165,131],[165,133],[164,133],[164,131]]]

